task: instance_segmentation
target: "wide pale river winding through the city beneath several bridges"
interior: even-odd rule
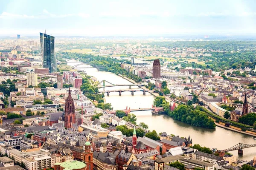
[[[78,63],[69,63],[69,65],[76,65]],[[84,67],[80,65],[79,67]],[[79,68],[78,67],[78,68]],[[96,68],[84,69],[87,75],[93,76],[98,81],[107,80],[113,84],[131,84],[126,79],[119,77],[110,72],[97,71]],[[107,85],[107,83],[106,83]],[[105,90],[119,90],[128,89],[129,87],[109,87]],[[138,87],[132,87],[138,88]],[[103,89],[99,89],[102,91]],[[150,108],[154,101],[154,96],[146,93],[143,96],[143,92],[134,92],[134,96],[131,96],[131,92],[123,92],[122,96],[119,96],[118,92],[111,92],[110,96],[105,94],[105,100],[107,103],[111,103],[114,110],[125,109],[126,106],[131,109],[135,108]],[[166,132],[167,134],[179,135],[180,137],[192,138],[193,144],[200,144],[201,146],[206,146],[209,148],[218,148],[220,150],[227,149],[236,144],[255,144],[256,140],[252,139],[251,136],[244,135],[241,133],[233,132],[231,130],[226,130],[221,127],[216,127],[216,129],[206,129],[201,127],[195,127],[188,125],[186,123],[172,119],[169,116],[159,114],[154,115],[151,111],[137,111],[132,112],[137,117],[137,123],[144,122],[148,125],[149,130],[156,130],[157,133]],[[231,151],[230,153],[238,156],[238,151]],[[244,149],[244,155],[238,156],[238,159],[243,159],[250,161],[256,155],[256,148],[251,147]]]

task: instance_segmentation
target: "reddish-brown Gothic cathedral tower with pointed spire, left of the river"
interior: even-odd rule
[[[72,124],[76,122],[75,117],[75,103],[71,97],[70,89],[65,103],[65,127],[70,128]]]

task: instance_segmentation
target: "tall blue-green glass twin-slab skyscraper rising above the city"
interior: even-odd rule
[[[54,51],[54,37],[40,33],[41,55],[43,68],[49,68],[49,73],[57,71],[57,62]]]

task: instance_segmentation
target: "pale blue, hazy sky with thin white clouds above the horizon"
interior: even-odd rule
[[[256,0],[0,0],[0,36],[256,35]]]

